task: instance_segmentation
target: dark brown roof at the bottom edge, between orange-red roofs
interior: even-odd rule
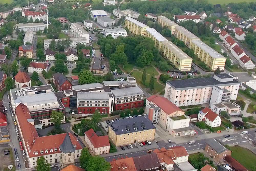
[[[138,171],[161,167],[156,153],[133,157],[133,161]]]

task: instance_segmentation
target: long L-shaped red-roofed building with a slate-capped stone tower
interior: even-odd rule
[[[61,168],[79,160],[82,146],[73,133],[39,137],[35,128],[37,122],[31,118],[28,107],[23,103],[16,107],[16,117],[30,167],[37,165],[36,159],[40,156],[44,156],[47,163],[59,163]],[[40,121],[38,122],[41,125]]]

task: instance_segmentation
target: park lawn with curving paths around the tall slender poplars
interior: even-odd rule
[[[136,79],[136,82],[138,84],[140,84],[140,86],[142,88],[149,88],[149,80],[150,80],[150,75],[147,75],[146,77],[146,82],[145,82],[145,85],[142,83],[142,72],[138,72],[138,71],[133,71],[132,72],[132,76],[135,77]],[[149,90],[150,93],[152,94],[156,94],[158,92],[161,92],[162,90],[164,89],[164,86],[159,84],[156,79],[155,79],[155,83],[154,83],[154,89],[153,91]]]

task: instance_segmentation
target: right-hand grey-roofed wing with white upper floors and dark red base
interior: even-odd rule
[[[143,91],[135,86],[111,90],[114,97],[114,110],[124,110],[142,107],[144,105]]]

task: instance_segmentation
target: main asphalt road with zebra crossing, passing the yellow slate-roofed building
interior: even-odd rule
[[[248,135],[243,135],[241,133],[233,133],[231,135],[231,133],[230,133],[229,138],[224,138],[223,136],[219,136],[219,137],[215,137],[215,139],[219,140],[224,145],[226,145],[226,144],[244,144],[244,143],[248,143],[250,140],[254,139],[254,136],[256,134],[256,132],[254,132],[254,130],[250,130],[248,132],[249,132]],[[180,146],[184,146],[187,149],[187,151],[195,151],[195,150],[199,150],[199,149],[204,149],[206,141],[208,141],[209,139],[211,139],[211,138],[197,140],[196,143],[193,145],[189,145],[188,142],[184,139],[183,143],[175,143],[175,141],[174,141],[171,143],[166,143],[163,146],[159,146],[158,149],[161,149],[162,147],[168,148],[171,145],[180,145]],[[149,149],[147,149],[147,150],[149,150]],[[105,160],[110,162],[113,159],[116,159],[118,157],[119,158],[121,158],[121,157],[125,158],[126,156],[127,157],[136,157],[136,156],[147,154],[147,152],[146,152],[147,150],[143,149],[141,151],[129,153],[129,149],[125,149],[125,152],[128,152],[128,153],[108,156],[108,157],[105,157]],[[152,149],[152,150],[154,150],[154,149]]]

